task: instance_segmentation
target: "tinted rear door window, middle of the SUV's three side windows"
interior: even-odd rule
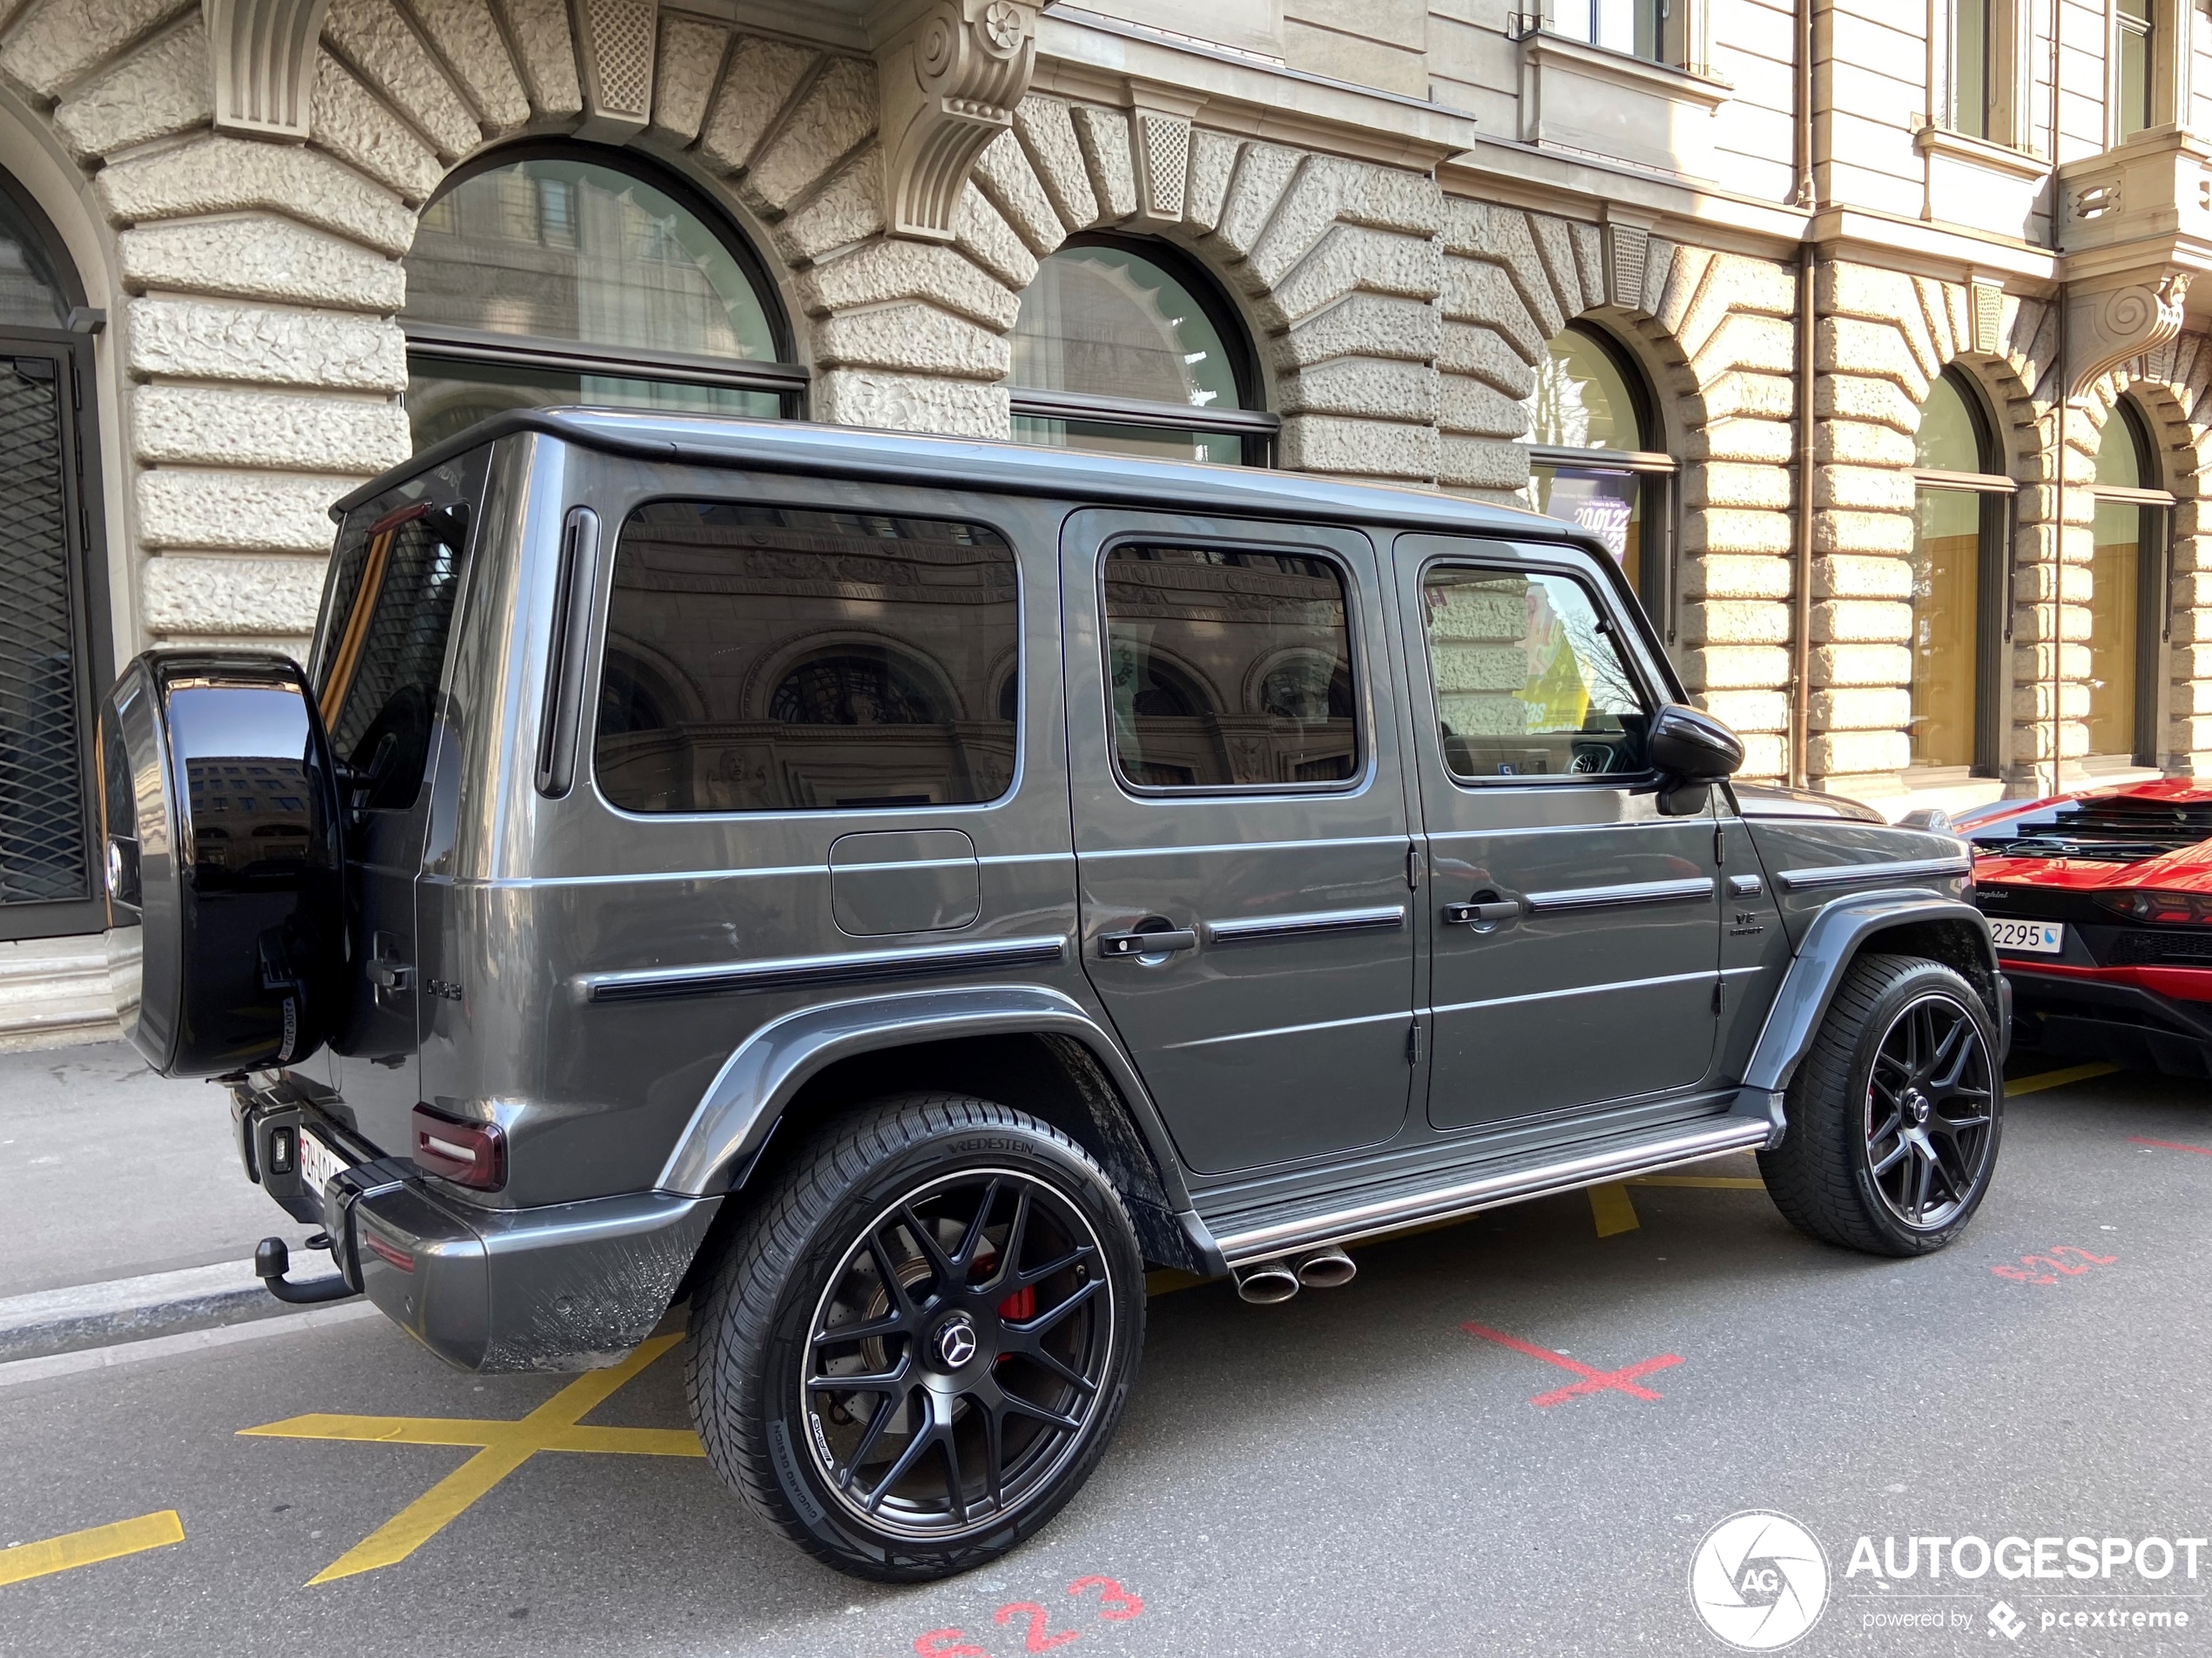
[[[1106,657],[1128,783],[1343,783],[1358,767],[1345,577],[1329,559],[1117,546]]]

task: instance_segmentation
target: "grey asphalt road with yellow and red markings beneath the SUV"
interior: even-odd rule
[[[102,1534],[133,1552],[73,1570],[22,1576],[31,1556],[0,1552],[0,1651],[1725,1654],[1690,1561],[1741,1510],[1792,1517],[1825,1554],[1794,1651],[2212,1651],[2212,1545],[2194,1578],[2190,1550],[2161,1578],[2064,1576],[2075,1536],[2099,1565],[2108,1536],[2212,1536],[2212,1090],[2017,1096],[1973,1229],[1916,1262],[1803,1240],[1743,1187],[1754,1172],[1723,1158],[1692,1176],[1736,1185],[1367,1247],[1356,1284],[1285,1307],[1157,1295],[1091,1486],[998,1567],[914,1589],[803,1559],[699,1459],[564,1450],[445,1503],[407,1559],[310,1583],[476,1452],[241,1430],[334,1413],[487,1439],[568,1386],[451,1373],[376,1318],[0,1375],[0,1547],[139,1521]],[[1562,1397],[1588,1375],[1467,1324],[1632,1375]],[[586,1421],[681,1430],[679,1355]],[[2059,1539],[2057,1576],[1960,1581],[1980,1561],[1955,1550],[1931,1581],[1913,1536],[2000,1543],[2000,1563]],[[1913,1578],[1867,1570],[1885,1539]],[[1761,1547],[1770,1583],[1803,1589],[1809,1567]]]

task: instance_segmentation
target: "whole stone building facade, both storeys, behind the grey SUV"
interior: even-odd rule
[[[1626,458],[1639,588],[1750,774],[1891,811],[2203,774],[2205,38],[2181,0],[0,0],[0,528],[69,546],[77,685],[15,718],[51,747],[153,641],[301,648],[327,504],[407,458],[425,354],[487,358],[409,314],[425,212],[557,150],[743,252],[772,409],[1110,436],[1024,400],[1024,296],[1157,248],[1241,336],[1248,462],[1540,502]],[[1531,429],[1568,347],[1635,442]],[[1982,526],[1949,573],[1944,491]],[[0,891],[0,1041],[104,1028],[86,869]]]

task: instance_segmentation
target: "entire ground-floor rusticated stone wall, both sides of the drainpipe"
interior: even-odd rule
[[[593,0],[577,0],[588,11]],[[113,232],[126,378],[122,533],[161,639],[294,646],[312,623],[327,504],[403,460],[400,265],[420,206],[484,148],[593,124],[564,0],[334,0],[312,137],[212,128],[190,0],[0,0],[0,93],[86,170]],[[626,141],[754,237],[814,374],[821,420],[1006,436],[1009,329],[1037,261],[1117,228],[1186,248],[1243,307],[1283,416],[1281,464],[1502,500],[1526,482],[1524,398],[1544,343],[1586,316],[1626,340],[1681,464],[1677,661],[1787,765],[1794,506],[1790,263],[1447,195],[1436,175],[1301,150],[1155,108],[1031,95],[975,166],[949,245],[885,234],[876,66],[666,11],[646,124]],[[604,124],[591,126],[604,130]],[[619,137],[619,133],[617,133]],[[2022,482],[2013,783],[2077,754],[2088,513],[2051,524],[2048,307],[2006,296],[1969,349],[1958,283],[1823,263],[1809,758],[1893,791],[1907,758],[1911,455],[1944,363],[2002,411]],[[2212,765],[2212,573],[2194,458],[2208,354],[2183,338],[2108,376],[2070,422],[2086,484],[2112,396],[2161,420],[2181,497],[2172,765]],[[1668,619],[1661,619],[1668,621]]]

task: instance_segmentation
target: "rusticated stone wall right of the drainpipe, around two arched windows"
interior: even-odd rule
[[[2077,780],[2088,754],[2090,601],[2097,449],[2124,393],[2150,418],[2161,478],[2179,500],[2172,555],[2170,721],[2154,756],[2168,772],[2212,774],[2212,584],[2199,537],[2197,473],[2212,444],[2205,402],[2212,345],[2183,334],[2079,391],[2066,411],[2066,495],[2057,491],[2057,314],[2006,294],[1993,338],[1975,349],[1964,283],[1820,267],[1814,393],[1814,650],[1809,769],[1838,794],[1896,789],[1909,763],[1913,455],[1920,407],[1958,367],[1995,413],[2013,508],[2013,592],[2004,783],[2044,794]],[[2203,641],[2203,643],[2201,643]],[[2053,721],[2057,703],[2057,721]]]

